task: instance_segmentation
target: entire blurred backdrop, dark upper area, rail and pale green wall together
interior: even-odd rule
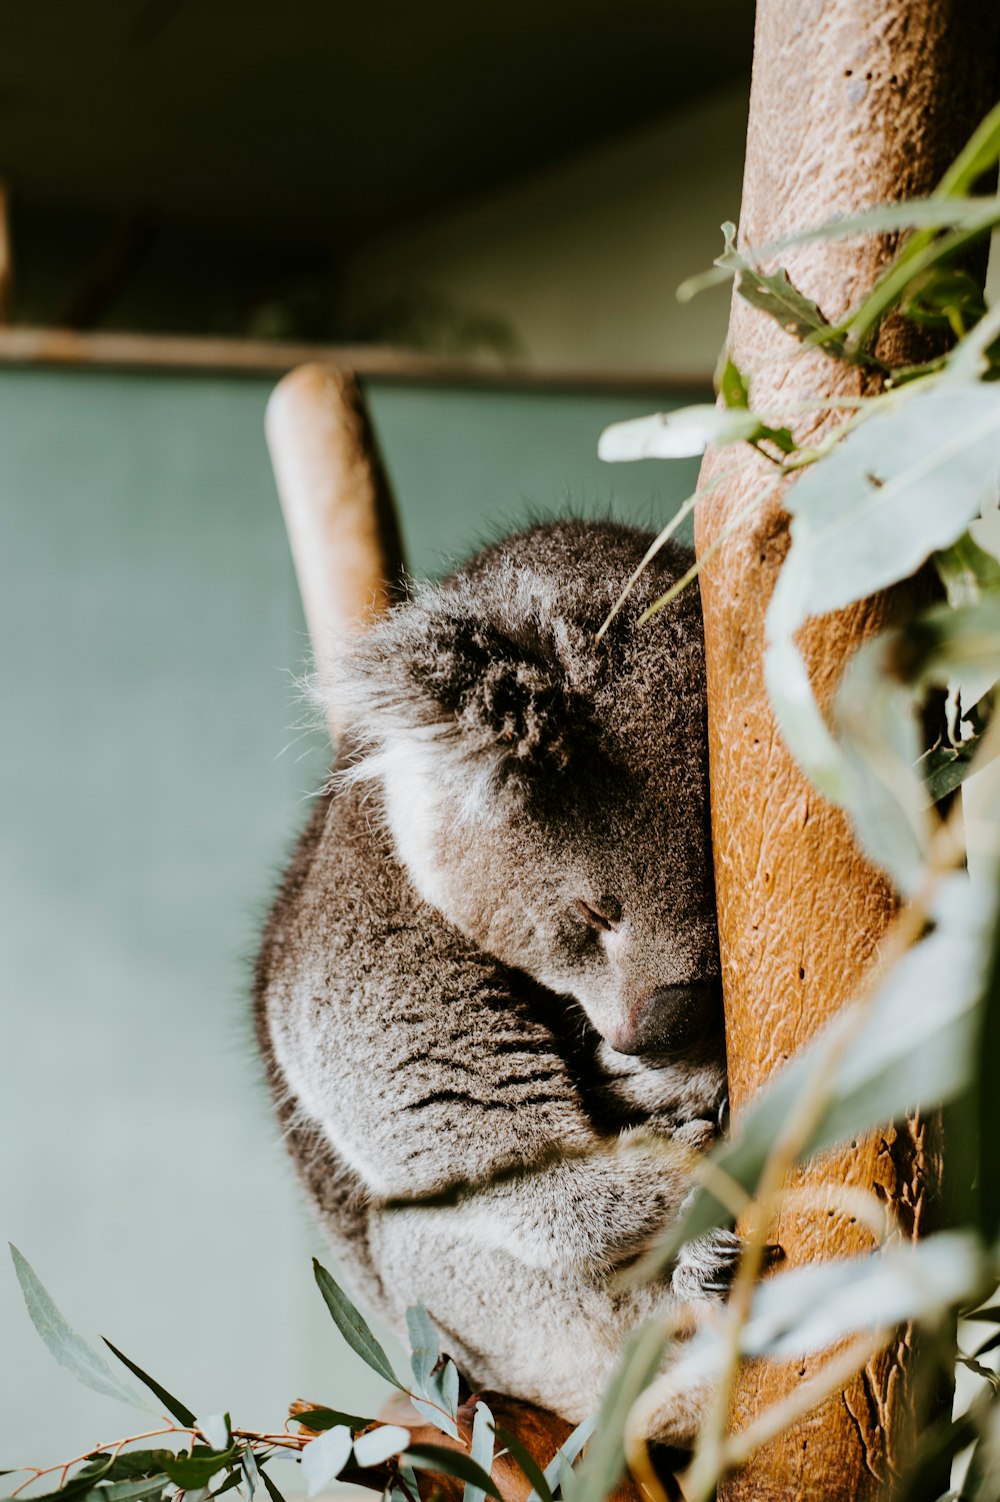
[[[752,6],[53,0],[0,14],[0,1220],[198,1413],[374,1412],[254,1057],[249,967],[329,748],[263,437],[363,379],[410,566],[530,517],[662,524],[596,460],[703,398]],[[0,1466],[146,1427],[0,1266]],[[287,1472],[279,1472],[285,1484]]]

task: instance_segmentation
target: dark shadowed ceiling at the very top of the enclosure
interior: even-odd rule
[[[18,0],[14,203],[350,249],[749,77],[751,0]]]

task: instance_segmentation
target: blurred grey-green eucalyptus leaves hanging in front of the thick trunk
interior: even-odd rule
[[[766,682],[779,731],[811,783],[848,814],[859,844],[908,898],[883,943],[863,993],[776,1074],[742,1113],[730,1142],[703,1164],[703,1188],[632,1277],[661,1275],[689,1238],[731,1224],[748,1206],[752,1235],[737,1274],[727,1328],[706,1328],[685,1344],[679,1380],[710,1380],[721,1394],[683,1482],[707,1499],[719,1475],[755,1443],[836,1391],[893,1331],[914,1322],[944,1359],[949,1313],[979,1304],[1000,1283],[1000,1164],[994,1151],[992,1090],[1000,1068],[1000,725],[992,719],[1000,680],[1000,309],[961,264],[1000,224],[1000,200],[971,195],[1000,156],[1000,107],[979,128],[938,191],[803,231],[760,251],[737,248],[724,225],[716,267],[683,288],[733,276],[736,291],[775,318],[799,347],[820,345],[836,360],[881,376],[881,391],[853,404],[820,445],[793,442],[775,454],[791,545],[766,622]],[[911,228],[871,293],[839,324],[794,287],[779,257],[809,239]],[[952,338],[952,348],[905,369],[875,353],[887,315]],[[754,372],[725,356],[716,376],[718,421],[703,409],[671,413],[674,433],[743,452],[758,421],[794,436],[802,412],[757,413]],[[814,416],[812,413],[809,416]],[[814,430],[814,424],[811,424]],[[614,458],[652,452],[655,419],[619,424],[605,442]],[[749,446],[749,448],[748,448]],[[736,469],[736,466],[734,466]],[[730,470],[730,475],[734,473]],[[794,481],[794,484],[791,484]],[[713,484],[718,482],[713,481]],[[775,475],[761,482],[773,494]],[[695,493],[688,511],[704,491]],[[752,505],[746,508],[746,514]],[[739,524],[739,518],[737,518]],[[659,539],[658,539],[659,541]],[[650,550],[650,556],[655,547]],[[704,566],[701,559],[692,572]],[[934,566],[946,604],[901,604],[892,629],[845,665],[833,703],[820,709],[799,631],[811,617],[868,598]],[[667,596],[659,602],[662,607]],[[934,697],[932,697],[934,695]],[[929,709],[935,712],[928,713]],[[938,728],[928,733],[928,727]],[[961,804],[949,795],[971,775],[976,814],[968,826],[976,879],[965,870]],[[766,1226],[781,1208],[796,1163],[839,1142],[950,1102],[968,1131],[952,1149],[959,1184],[955,1226],[907,1247],[871,1197],[842,1191],[844,1212],[865,1220],[878,1250],[863,1259],[778,1272],[752,1287]],[[833,1214],[833,1211],[830,1211]],[[994,1319],[985,1311],[982,1319]],[[842,1343],[848,1341],[847,1346]],[[776,1409],[727,1436],[725,1394],[743,1358],[806,1352],[829,1356]],[[929,1427],[902,1493],[931,1502],[940,1487],[934,1457],[971,1445],[961,1497],[1000,1494],[1000,1382],[988,1335],[959,1362],[985,1391],[967,1413]],[[953,1359],[953,1356],[952,1356]],[[628,1368],[641,1370],[635,1353]],[[608,1416],[608,1427],[616,1424]],[[628,1419],[617,1419],[628,1433]],[[607,1433],[596,1445],[605,1451]],[[641,1454],[629,1454],[643,1472]],[[608,1469],[601,1484],[610,1484]],[[598,1491],[595,1490],[595,1499]]]

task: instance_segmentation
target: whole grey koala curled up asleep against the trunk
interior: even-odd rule
[[[689,554],[595,641],[650,541],[535,527],[347,650],[347,743],[257,967],[278,1114],[359,1293],[398,1328],[422,1301],[474,1386],[571,1421],[638,1322],[725,1293],[736,1245],[614,1280],[691,1190],[635,1130],[703,1149],[725,1090],[697,590],[638,626]]]

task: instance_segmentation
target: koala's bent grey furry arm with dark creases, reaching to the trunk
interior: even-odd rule
[[[628,1260],[689,1190],[683,1158],[602,1139],[518,978],[455,951],[407,928],[350,991],[300,975],[272,1002],[300,1108],[375,1202],[452,1200],[419,1214],[533,1266]]]

